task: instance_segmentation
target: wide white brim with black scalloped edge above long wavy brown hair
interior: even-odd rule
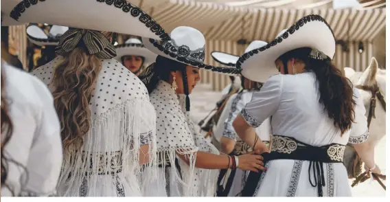
[[[2,25],[47,23],[84,30],[145,36],[162,41],[169,36],[146,12],[126,0],[1,1]]]

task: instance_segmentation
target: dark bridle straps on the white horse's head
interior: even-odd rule
[[[371,124],[372,117],[375,118],[375,107],[376,107],[376,98],[378,98],[380,105],[382,105],[383,109],[386,112],[386,101],[385,97],[380,92],[378,84],[374,84],[373,86],[365,86],[365,85],[357,85],[356,89],[362,89],[363,91],[371,91],[371,102],[369,104],[369,112],[367,117],[367,127]]]

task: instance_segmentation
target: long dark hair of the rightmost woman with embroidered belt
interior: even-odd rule
[[[351,128],[354,122],[355,111],[354,91],[352,82],[343,76],[330,58],[318,60],[310,58],[310,47],[301,47],[286,52],[279,57],[284,67],[291,58],[301,60],[306,66],[306,71],[312,71],[316,75],[319,86],[319,102],[323,104],[324,111],[334,120],[334,126],[340,128],[341,135]]]

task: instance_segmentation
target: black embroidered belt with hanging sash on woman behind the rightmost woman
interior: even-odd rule
[[[266,146],[269,145],[268,141],[263,141]],[[252,147],[246,144],[244,141],[240,140],[236,142],[236,145],[234,146],[234,149],[231,153],[229,153],[229,156],[239,156],[244,155],[246,153],[250,153],[252,151]],[[230,192],[231,186],[233,185],[233,179],[234,176],[236,176],[236,170],[231,170],[230,175],[227,176],[227,183],[224,188],[224,186],[221,186],[220,183],[222,179],[224,179],[225,175],[227,175],[228,169],[221,169],[220,174],[218,175],[217,180],[217,197],[227,197],[227,195]]]

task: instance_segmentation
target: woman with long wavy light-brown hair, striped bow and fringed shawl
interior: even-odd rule
[[[69,26],[58,57],[32,72],[49,85],[62,126],[59,194],[141,196],[141,165],[150,162],[149,176],[157,177],[154,107],[141,80],[113,59],[111,32],[104,31],[163,40],[168,34],[127,1],[38,1],[21,12],[23,3],[11,14],[14,23]]]

